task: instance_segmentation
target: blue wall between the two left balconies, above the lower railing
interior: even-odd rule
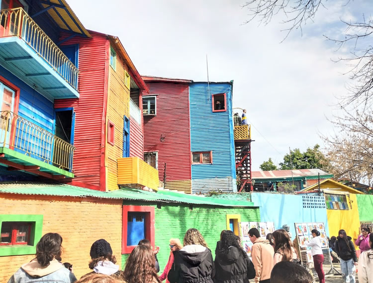
[[[38,125],[39,127],[53,133],[54,130],[54,107],[53,102],[39,94],[26,85],[13,74],[0,66],[0,76],[11,82],[20,89],[18,115]],[[16,131],[17,133],[17,131]],[[17,140],[17,136],[16,136]],[[33,139],[33,141],[35,141]],[[19,142],[19,140],[18,140]],[[14,149],[19,151],[18,149]],[[48,151],[50,149],[48,148]],[[20,151],[22,152],[22,151]],[[23,153],[23,152],[22,152]],[[35,158],[35,156],[32,156]]]

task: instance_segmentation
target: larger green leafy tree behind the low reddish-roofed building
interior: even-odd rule
[[[331,169],[330,162],[320,151],[318,144],[313,148],[307,148],[303,153],[300,152],[299,148],[291,150],[289,154],[283,157],[283,162],[280,163],[281,170],[317,168],[326,172]]]

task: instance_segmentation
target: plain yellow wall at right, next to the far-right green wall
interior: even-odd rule
[[[352,237],[354,239],[353,242],[355,242],[355,239],[358,238],[360,227],[356,194],[351,193],[350,200],[352,209],[350,207],[349,210],[327,209],[326,211],[328,216],[329,236],[337,237],[338,231],[344,229],[346,230],[347,235]]]

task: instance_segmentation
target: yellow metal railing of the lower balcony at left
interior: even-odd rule
[[[10,111],[0,112],[0,147],[73,170],[73,145]]]

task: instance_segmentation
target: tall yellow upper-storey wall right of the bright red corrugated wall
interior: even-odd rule
[[[129,90],[124,85],[124,70],[128,71],[123,59],[116,51],[116,68],[109,68],[107,117],[115,125],[114,145],[106,143],[106,188],[118,189],[117,158],[123,157],[123,116],[129,118]],[[106,124],[107,125],[107,124]],[[107,131],[107,127],[106,127]],[[106,134],[107,138],[107,134]]]

